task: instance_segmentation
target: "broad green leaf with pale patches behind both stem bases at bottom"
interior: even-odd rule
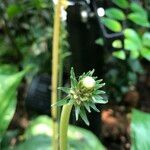
[[[25,131],[24,141],[15,147],[15,150],[48,150],[51,148],[52,121],[47,116],[40,116],[32,120]],[[93,133],[85,129],[69,126],[69,149],[70,150],[104,150]]]

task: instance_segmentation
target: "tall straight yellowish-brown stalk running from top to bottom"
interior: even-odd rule
[[[55,5],[54,11],[54,32],[53,32],[53,47],[52,47],[52,104],[57,102],[57,84],[58,84],[58,66],[59,66],[59,37],[60,37],[60,14],[61,0]],[[53,119],[53,150],[58,150],[58,122],[57,122],[57,107],[51,109]]]

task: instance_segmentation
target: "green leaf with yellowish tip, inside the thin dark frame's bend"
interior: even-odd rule
[[[121,24],[114,20],[114,19],[110,19],[110,18],[101,18],[101,22],[111,31],[113,32],[121,32],[122,31],[122,26]]]

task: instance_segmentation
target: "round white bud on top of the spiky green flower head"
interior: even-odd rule
[[[88,90],[93,89],[95,87],[95,83],[95,80],[90,76],[87,76],[82,80],[82,85]]]

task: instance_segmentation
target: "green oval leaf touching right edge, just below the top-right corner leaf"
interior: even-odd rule
[[[143,26],[143,27],[150,27],[150,23],[148,21],[148,18],[146,16],[143,16],[143,14],[140,13],[130,13],[128,15],[128,19],[131,20],[133,23]]]

